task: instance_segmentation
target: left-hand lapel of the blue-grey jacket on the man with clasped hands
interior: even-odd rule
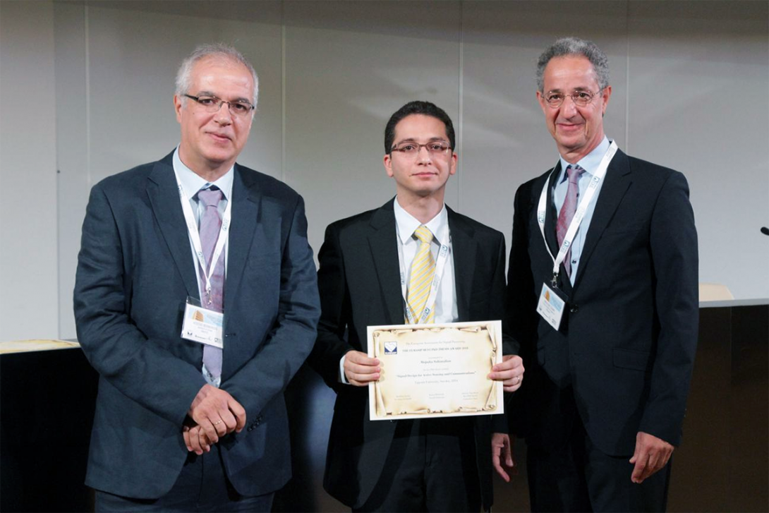
[[[185,215],[181,211],[178,185],[171,161],[173,153],[155,163],[149,175],[147,195],[158,220],[158,226],[168,245],[187,294],[199,298],[198,278],[195,275],[195,263],[192,260],[189,235]]]

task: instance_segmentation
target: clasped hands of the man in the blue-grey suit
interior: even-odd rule
[[[181,431],[187,450],[196,455],[211,451],[219,438],[245,428],[245,408],[228,392],[208,384],[195,395],[187,415]]]

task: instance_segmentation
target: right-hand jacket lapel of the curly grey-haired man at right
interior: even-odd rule
[[[574,281],[574,288],[579,285],[595,246],[601,239],[601,235],[604,233],[609,222],[611,222],[611,218],[614,217],[614,212],[617,211],[631,183],[628,155],[618,151],[614,158],[611,159],[611,164],[606,172],[606,178],[604,178],[604,185],[601,185],[601,192],[598,193],[593,218],[588,227],[584,246],[582,247],[582,255],[580,257],[577,278]]]

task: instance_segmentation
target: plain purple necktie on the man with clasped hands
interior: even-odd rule
[[[221,217],[219,216],[219,202],[221,202],[221,191],[218,188],[201,189],[198,191],[198,201],[203,207],[203,213],[200,217],[200,244],[205,256],[205,264],[210,265],[211,257],[214,255],[216,239],[219,236],[221,228]],[[200,288],[203,292],[201,304],[208,310],[222,311],[224,304],[225,291],[225,252],[221,252],[216,266],[211,273],[211,294],[209,295],[205,287],[204,271],[200,272]],[[203,364],[213,378],[221,376],[221,349],[211,345],[203,346]]]

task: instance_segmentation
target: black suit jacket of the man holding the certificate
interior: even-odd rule
[[[459,321],[504,315],[504,237],[448,209]],[[393,202],[328,226],[318,253],[321,321],[311,365],[337,392],[328,440],[325,489],[351,507],[371,495],[384,468],[396,422],[370,421],[368,389],[338,382],[347,351],[368,351],[368,325],[403,324]],[[516,351],[506,342],[506,354]],[[495,417],[500,417],[496,415]],[[491,418],[474,417],[478,474],[491,505]],[[459,462],[458,462],[459,465]]]

